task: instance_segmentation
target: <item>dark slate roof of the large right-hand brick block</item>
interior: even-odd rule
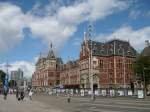
[[[127,41],[114,39],[105,43],[88,40],[88,48],[95,56],[121,55],[136,57],[137,51]]]

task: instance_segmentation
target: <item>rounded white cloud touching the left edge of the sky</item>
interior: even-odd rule
[[[24,14],[19,7],[0,4],[0,52],[21,41],[23,21]]]

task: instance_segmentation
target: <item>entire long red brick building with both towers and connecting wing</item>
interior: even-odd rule
[[[36,63],[32,85],[47,89],[64,88],[130,88],[134,80],[133,62],[136,50],[127,41],[111,40],[105,43],[86,39],[81,44],[77,61],[63,64],[54,56],[52,48],[47,57]]]

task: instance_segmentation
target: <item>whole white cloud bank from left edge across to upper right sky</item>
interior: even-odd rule
[[[103,19],[127,7],[127,2],[120,0],[87,0],[69,6],[36,4],[25,14],[19,6],[0,3],[0,52],[20,42],[25,27],[46,44],[53,42],[59,52],[80,23]]]

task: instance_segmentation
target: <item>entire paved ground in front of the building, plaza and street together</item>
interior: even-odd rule
[[[136,98],[89,98],[38,95],[33,100],[17,101],[14,95],[7,100],[0,96],[0,112],[150,112],[149,99]]]

